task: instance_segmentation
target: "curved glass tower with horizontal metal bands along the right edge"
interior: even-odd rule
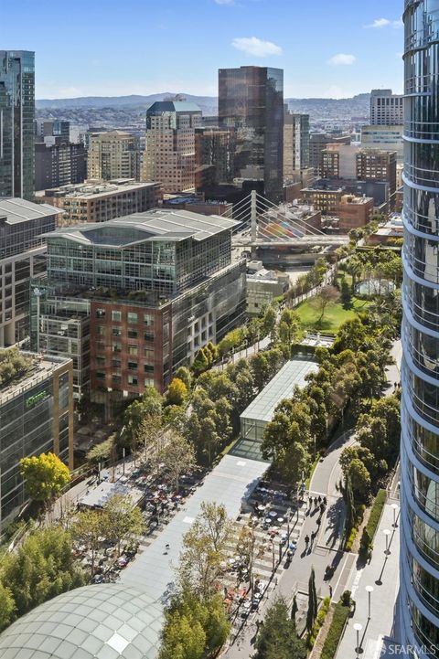
[[[403,643],[439,653],[439,0],[405,0]]]

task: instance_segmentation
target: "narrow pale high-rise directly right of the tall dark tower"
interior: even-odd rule
[[[284,179],[300,179],[309,167],[309,114],[284,112]]]

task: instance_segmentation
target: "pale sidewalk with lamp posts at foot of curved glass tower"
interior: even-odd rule
[[[397,511],[399,514],[399,511]],[[359,649],[361,659],[379,659],[384,639],[397,637],[394,629],[396,618],[396,601],[399,590],[400,561],[400,526],[393,528],[393,509],[386,504],[373,543],[373,553],[369,565],[362,569],[354,567],[348,580],[348,590],[356,601],[356,609],[338,646],[336,659],[347,659],[356,656],[357,632],[354,624],[359,623]],[[386,539],[383,531],[391,531],[389,535],[390,554],[385,554]],[[370,618],[369,594],[366,586],[371,586]],[[389,642],[387,641],[387,647]]]

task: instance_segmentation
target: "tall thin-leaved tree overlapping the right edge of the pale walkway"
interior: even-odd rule
[[[224,505],[201,504],[201,512],[183,536],[178,579],[182,589],[189,588],[201,600],[215,591],[220,564],[226,559],[232,522]]]

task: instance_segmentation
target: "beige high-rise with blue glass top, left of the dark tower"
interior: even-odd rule
[[[195,130],[201,110],[187,101],[157,101],[146,111],[143,180],[166,193],[195,188]]]

